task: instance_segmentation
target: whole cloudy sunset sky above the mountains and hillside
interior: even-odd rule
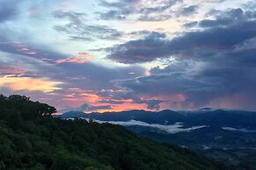
[[[0,0],[0,94],[68,110],[256,110],[256,1]]]

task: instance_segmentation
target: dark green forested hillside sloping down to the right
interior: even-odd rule
[[[228,169],[126,128],[53,118],[55,108],[26,96],[0,96],[0,169]]]

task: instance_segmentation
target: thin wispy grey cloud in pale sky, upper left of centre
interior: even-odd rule
[[[72,40],[120,39],[123,34],[106,25],[88,25],[86,14],[77,11],[54,11],[53,16],[69,21],[66,25],[55,25],[54,29],[67,34]]]

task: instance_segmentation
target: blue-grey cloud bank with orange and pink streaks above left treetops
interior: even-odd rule
[[[11,94],[12,90],[12,93],[17,91],[16,93],[22,95],[33,96],[36,100],[43,100],[42,102],[55,105],[57,108],[77,106],[87,102],[93,106],[109,105],[107,101],[99,104],[98,100],[92,101],[91,98],[101,89],[115,89],[110,82],[113,79],[133,78],[143,75],[146,71],[140,66],[104,67],[93,63],[92,60],[86,62],[91,58],[88,53],[80,53],[77,57],[70,58],[69,55],[52,50],[49,46],[44,46],[42,49],[35,44],[33,47],[25,44],[8,41],[0,44],[0,51],[4,51],[0,52],[0,76],[9,76],[7,80],[4,77],[0,89],[4,94]],[[31,56],[18,51],[23,48],[36,49],[37,54]],[[55,82],[62,83],[55,84]],[[87,90],[91,92],[87,93]],[[84,96],[85,93],[91,96]],[[115,109],[119,107],[118,104],[113,106],[116,106]]]

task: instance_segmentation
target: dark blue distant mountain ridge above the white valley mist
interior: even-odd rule
[[[178,122],[184,127],[208,125],[211,127],[231,127],[256,130],[256,112],[243,110],[162,110],[159,112],[145,110],[128,110],[121,112],[84,114],[80,111],[69,111],[62,114],[62,118],[93,118],[100,121],[141,121],[147,124],[171,125]]]

